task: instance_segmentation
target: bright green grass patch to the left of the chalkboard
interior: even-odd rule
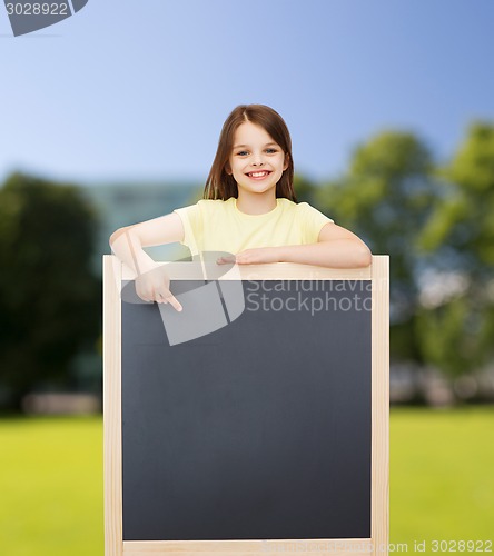
[[[102,420],[0,421],[0,554],[103,554]]]

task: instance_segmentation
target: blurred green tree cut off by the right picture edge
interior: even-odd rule
[[[494,356],[494,126],[472,123],[437,173],[444,195],[419,244],[436,254],[436,280],[458,286],[443,287],[416,324],[425,357],[457,377]]]

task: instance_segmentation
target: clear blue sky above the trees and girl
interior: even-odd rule
[[[89,0],[13,38],[0,6],[0,179],[204,181],[239,103],[288,123],[296,170],[384,128],[449,156],[494,117],[491,0]]]

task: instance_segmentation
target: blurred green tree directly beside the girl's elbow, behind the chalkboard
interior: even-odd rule
[[[391,257],[391,349],[395,359],[422,363],[414,318],[421,272],[421,228],[437,187],[427,147],[412,133],[384,131],[357,147],[348,171],[320,191],[319,206],[357,234],[373,254]]]

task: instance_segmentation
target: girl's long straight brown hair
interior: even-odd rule
[[[294,160],[288,128],[276,110],[264,105],[240,105],[226,119],[219,136],[216,157],[204,188],[204,198],[226,201],[230,197],[238,197],[237,182],[233,176],[227,173],[225,167],[234,148],[235,132],[245,121],[260,126],[281,147],[288,161],[288,168],[276,183],[276,197],[285,197],[297,202],[294,191]]]

